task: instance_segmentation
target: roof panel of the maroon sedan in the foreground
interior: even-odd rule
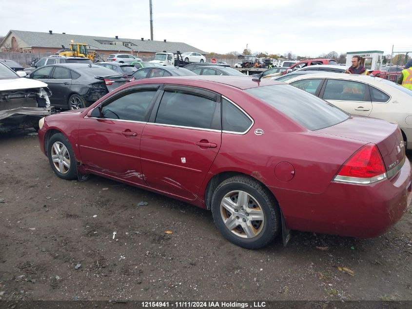
[[[243,76],[222,76],[222,75],[174,76],[174,77],[151,78],[148,80],[151,80],[150,82],[159,82],[159,81],[168,80],[168,79],[216,82],[216,83],[225,84],[228,86],[233,86],[235,88],[239,88],[242,90],[249,89],[249,88],[255,88],[259,86],[284,84],[283,82],[276,82],[276,81],[271,81],[268,79],[266,80],[262,79],[260,82],[255,82],[253,78],[244,78]]]

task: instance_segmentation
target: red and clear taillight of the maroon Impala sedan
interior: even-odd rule
[[[386,178],[385,165],[378,147],[375,144],[367,144],[342,165],[334,181],[372,184]]]

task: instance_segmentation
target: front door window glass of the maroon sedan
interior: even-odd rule
[[[156,89],[142,89],[126,93],[115,101],[104,103],[101,106],[103,118],[131,121],[145,121],[146,113]]]

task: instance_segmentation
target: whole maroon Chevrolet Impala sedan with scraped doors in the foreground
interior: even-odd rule
[[[290,229],[376,237],[411,201],[396,124],[270,80],[130,82],[43,118],[39,142],[60,178],[92,173],[210,209],[247,248]]]

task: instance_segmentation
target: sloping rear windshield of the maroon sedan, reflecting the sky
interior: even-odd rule
[[[309,130],[339,124],[350,116],[336,106],[291,85],[263,86],[245,91]]]

